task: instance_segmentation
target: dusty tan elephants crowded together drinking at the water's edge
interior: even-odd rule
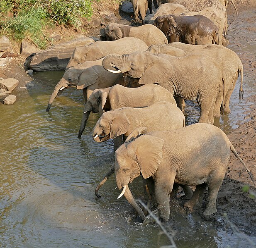
[[[200,9],[200,2],[209,2],[212,5],[206,7],[225,12],[225,6],[216,1],[196,0],[191,6]],[[166,4],[177,9],[176,3]],[[189,7],[187,4],[181,8],[190,10]],[[193,11],[202,12],[203,7],[197,9]],[[178,25],[176,17],[170,20]],[[155,21],[159,21],[158,17]],[[235,52],[222,45],[212,41],[202,45],[172,42],[156,26],[110,23],[100,32],[105,41],[76,48],[46,111],[65,88],[76,86],[83,89],[85,99],[78,137],[82,136],[90,113],[99,113],[92,136],[102,143],[114,139],[115,165],[98,184],[96,196],[100,197],[100,187],[115,172],[117,187],[123,188],[119,198],[124,195],[144,220],[145,212],[128,187],[141,175],[147,188],[146,200],[151,210],[158,209],[162,220],[170,217],[170,197],[178,186],[189,199],[184,204],[189,210],[201,205],[208,187],[203,215],[212,215],[217,212],[217,193],[230,151],[253,180],[227,136],[213,125],[221,111],[230,112],[229,100],[239,74],[242,100],[243,65]],[[184,99],[197,101],[199,123],[185,126]],[[196,186],[194,192],[190,186]]]

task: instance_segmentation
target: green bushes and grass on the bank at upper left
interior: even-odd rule
[[[91,0],[0,0],[0,34],[11,34],[16,41],[28,37],[45,48],[49,24],[80,28],[81,20],[92,14]]]

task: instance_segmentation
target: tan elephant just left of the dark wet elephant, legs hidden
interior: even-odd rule
[[[138,27],[131,27],[129,25],[110,23],[104,29],[101,29],[101,37],[106,38],[107,41],[115,41],[123,37],[138,38],[146,43],[147,46],[152,44],[168,44],[166,36],[163,32],[153,25],[143,25]]]

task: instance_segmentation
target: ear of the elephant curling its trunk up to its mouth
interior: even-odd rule
[[[145,53],[146,58],[144,61],[146,61],[147,67],[144,74],[139,79],[139,84],[167,82],[173,75],[173,67],[171,63],[151,52]]]

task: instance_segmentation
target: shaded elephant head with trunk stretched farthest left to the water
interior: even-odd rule
[[[57,83],[55,86],[54,91],[49,99],[46,112],[50,110],[51,104],[53,103],[56,96],[60,95],[65,88],[76,86],[76,88],[80,90],[95,83],[99,76],[96,71],[96,66],[98,66],[98,64],[102,64],[102,60],[103,59],[97,62],[95,61],[95,63],[88,61],[68,68],[59,83]]]

